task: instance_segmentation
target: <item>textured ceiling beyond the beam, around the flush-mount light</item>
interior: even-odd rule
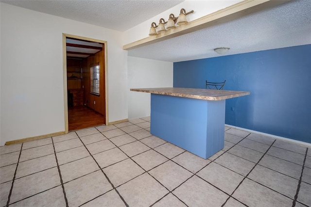
[[[169,40],[128,51],[129,56],[180,62],[311,44],[311,0],[290,1]],[[213,48],[228,47],[224,55]]]

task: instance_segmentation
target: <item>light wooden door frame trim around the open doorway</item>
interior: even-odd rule
[[[66,49],[66,38],[75,38],[81,40],[87,40],[92,42],[98,42],[104,44],[104,79],[105,79],[105,125],[108,125],[108,61],[107,61],[107,41],[92,39],[88,37],[77,36],[73,34],[63,33],[63,78],[64,78],[64,109],[65,109],[65,133],[69,132],[68,127],[68,99],[67,99],[67,49]]]

